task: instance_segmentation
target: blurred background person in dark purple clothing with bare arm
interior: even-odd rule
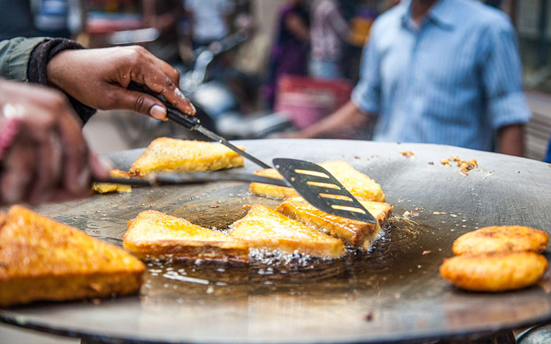
[[[275,89],[282,75],[306,75],[310,43],[310,17],[304,0],[288,0],[278,13],[278,27],[271,49],[264,98],[273,107]]]

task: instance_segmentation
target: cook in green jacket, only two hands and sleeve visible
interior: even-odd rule
[[[110,166],[87,147],[83,123],[96,109],[166,119],[163,103],[129,91],[130,82],[195,114],[180,92],[179,78],[143,47],[85,50],[68,39],[0,41],[0,204],[89,194],[92,178],[106,178]]]

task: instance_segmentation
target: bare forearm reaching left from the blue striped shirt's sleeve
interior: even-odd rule
[[[304,129],[301,136],[304,138],[319,138],[333,131],[364,125],[368,120],[369,115],[349,101],[330,116]]]

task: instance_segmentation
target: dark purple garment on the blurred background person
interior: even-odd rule
[[[280,76],[307,74],[308,44],[300,41],[285,28],[285,21],[292,14],[298,15],[306,25],[309,25],[309,13],[304,6],[286,4],[280,9],[278,35],[271,50],[268,83],[264,89],[264,96],[270,106],[273,106],[275,88]]]

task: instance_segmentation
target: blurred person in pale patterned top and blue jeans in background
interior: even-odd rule
[[[314,0],[311,14],[309,74],[314,78],[341,78],[340,61],[350,30],[335,0]]]

